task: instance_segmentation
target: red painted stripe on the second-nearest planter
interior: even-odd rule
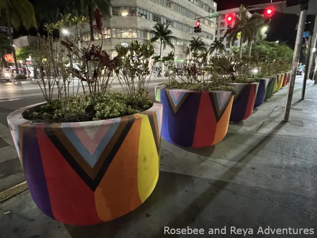
[[[202,92],[192,147],[200,148],[211,146],[215,136],[216,126],[217,121],[214,117],[209,94]]]

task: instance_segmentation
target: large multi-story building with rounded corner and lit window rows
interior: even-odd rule
[[[150,33],[156,23],[170,25],[173,36],[177,39],[172,42],[175,47],[177,66],[182,66],[186,60],[185,52],[192,37],[201,36],[206,45],[214,40],[214,19],[202,19],[201,33],[194,33],[195,18],[208,16],[215,12],[217,4],[212,0],[113,0],[111,18],[104,20],[106,27],[103,39],[103,48],[111,56],[115,56],[115,46],[125,45],[132,40],[139,42],[149,41],[153,34]],[[75,33],[75,28],[70,29]],[[101,43],[101,35],[94,34],[96,44]],[[82,41],[85,45],[91,41],[89,25],[82,30]],[[159,54],[160,43],[155,42],[156,52]],[[162,56],[167,55],[172,49],[166,47]],[[162,69],[163,70],[163,69]]]

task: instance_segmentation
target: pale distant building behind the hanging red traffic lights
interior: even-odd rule
[[[227,39],[224,38],[224,34],[228,30],[228,24],[226,21],[227,15],[231,12],[237,12],[237,11],[240,11],[239,7],[221,11],[221,15],[216,17],[216,20],[215,20],[215,40],[219,40],[220,38],[222,39],[222,43],[226,47],[226,51],[222,53],[224,55],[230,54],[231,46],[238,46],[238,47],[240,46],[240,39],[235,40],[234,43],[232,44],[232,42],[227,41]],[[247,11],[246,13],[248,17],[251,16],[250,12]],[[239,16],[239,14],[236,14],[236,15]],[[235,24],[235,19],[233,19],[231,25],[234,26],[234,24]]]

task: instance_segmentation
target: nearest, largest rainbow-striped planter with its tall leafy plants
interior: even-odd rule
[[[95,18],[101,32],[98,9]],[[113,220],[140,206],[159,178],[162,106],[145,81],[152,46],[134,42],[129,56],[110,59],[93,43],[78,47],[76,36],[51,42],[39,40],[34,52],[47,102],[8,116],[30,193],[59,222]],[[124,93],[109,91],[113,72]]]

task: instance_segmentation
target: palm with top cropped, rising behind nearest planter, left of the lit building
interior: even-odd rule
[[[111,0],[65,0],[67,13],[76,16],[86,15],[88,12],[89,22],[93,23],[95,8],[99,8],[103,17],[110,17]],[[90,25],[91,40],[94,41],[94,28]]]

